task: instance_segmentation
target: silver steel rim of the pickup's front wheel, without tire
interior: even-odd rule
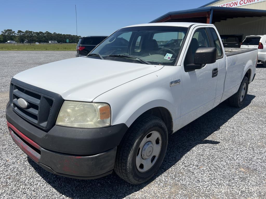
[[[158,160],[162,149],[162,137],[158,131],[151,131],[142,139],[136,154],[139,172],[149,171]]]

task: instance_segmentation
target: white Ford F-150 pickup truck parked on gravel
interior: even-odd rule
[[[257,55],[225,51],[212,24],[128,26],[87,57],[15,75],[7,126],[53,174],[93,179],[115,170],[140,184],[160,167],[169,135],[226,99],[243,105]]]

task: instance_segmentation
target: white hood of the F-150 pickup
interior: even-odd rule
[[[66,100],[92,102],[102,93],[162,67],[77,57],[28,69],[14,78],[58,93]]]

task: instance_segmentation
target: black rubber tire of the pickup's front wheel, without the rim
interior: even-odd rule
[[[157,131],[161,135],[161,151],[154,165],[147,172],[140,172],[136,167],[136,155],[142,140],[149,132]],[[123,180],[131,184],[141,184],[149,180],[163,162],[168,143],[167,127],[156,116],[144,115],[137,119],[124,135],[117,148],[114,170]]]

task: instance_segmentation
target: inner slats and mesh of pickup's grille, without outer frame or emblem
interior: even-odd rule
[[[54,99],[36,91],[24,88],[15,83],[10,85],[10,105],[12,109],[24,119],[40,126],[42,128],[47,127],[49,116],[53,107]],[[18,99],[22,98],[27,103],[27,108],[22,108]]]

